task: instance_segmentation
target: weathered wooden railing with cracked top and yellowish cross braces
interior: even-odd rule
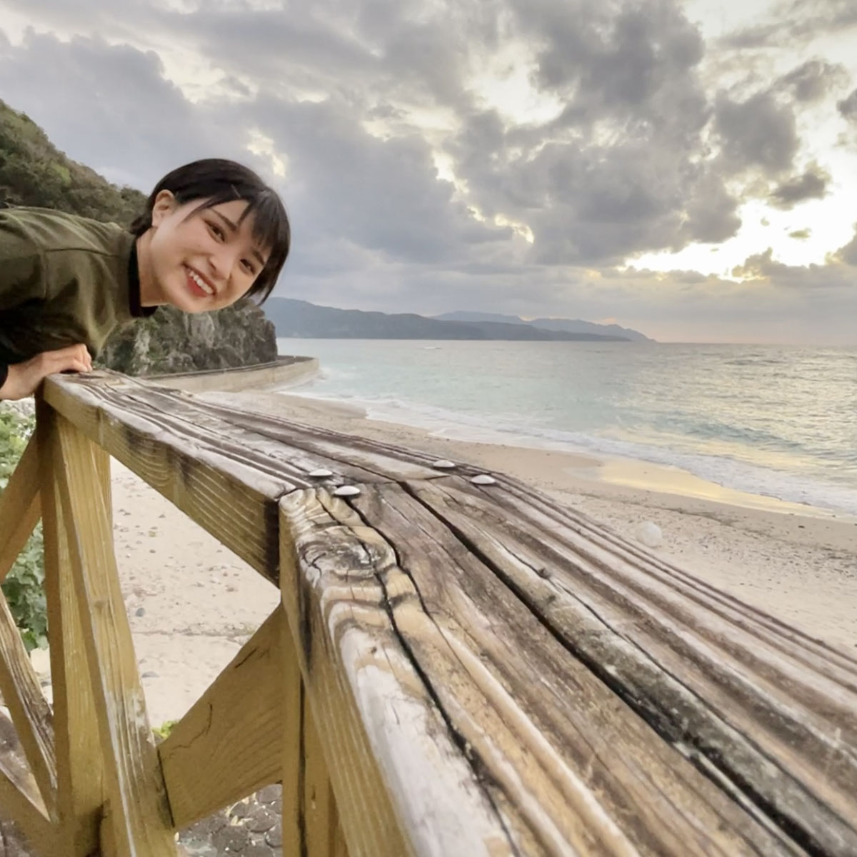
[[[506,476],[116,375],[37,423],[0,498],[0,572],[45,528],[52,710],[0,605],[36,853],[175,854],[282,782],[286,855],[857,854],[844,651]],[[158,747],[109,456],[282,593]]]

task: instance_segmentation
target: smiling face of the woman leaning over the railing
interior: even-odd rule
[[[178,205],[163,191],[152,210],[151,240],[141,282],[144,303],[169,303],[186,313],[223,309],[247,294],[267,252],[253,240],[253,215],[241,222],[243,200],[199,209],[203,200]],[[199,209],[199,210],[197,210]]]

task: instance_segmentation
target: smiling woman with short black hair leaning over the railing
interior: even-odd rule
[[[279,195],[233,161],[179,167],[131,230],[44,208],[0,211],[0,399],[87,372],[120,325],[261,301],[291,246]]]

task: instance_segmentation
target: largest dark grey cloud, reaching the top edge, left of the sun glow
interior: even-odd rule
[[[608,264],[733,235],[737,201],[698,163],[710,119],[704,48],[679,7],[512,8],[516,30],[539,45],[534,79],[563,107],[530,129],[509,129],[495,111],[465,117],[449,151],[482,211],[530,225],[532,258],[546,264]]]

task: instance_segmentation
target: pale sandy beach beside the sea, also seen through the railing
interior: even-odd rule
[[[219,399],[223,393],[204,393]],[[248,409],[506,472],[815,638],[857,649],[857,518],[741,494],[681,470],[451,440],[357,408],[230,393]],[[117,559],[153,725],[177,719],[274,608],[274,587],[133,473],[113,463]]]

